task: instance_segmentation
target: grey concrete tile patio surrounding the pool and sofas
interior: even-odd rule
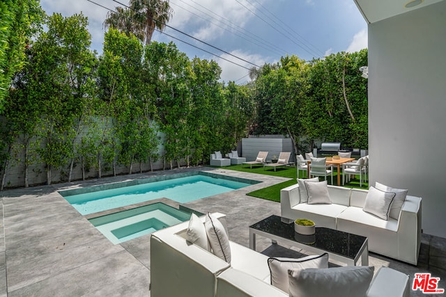
[[[215,168],[189,168],[94,179],[86,182],[19,188],[1,193],[0,296],[150,296],[150,234],[114,245],[79,214],[57,191],[169,175],[185,170],[211,170],[223,175],[261,181],[236,191],[183,205],[202,213],[226,214],[229,238],[249,246],[248,226],[271,214],[277,202],[245,195],[288,179]],[[163,202],[177,207],[178,203]],[[257,241],[266,255],[302,255],[302,250]],[[334,263],[336,264],[336,263]],[[372,266],[390,266],[410,276],[430,272],[446,289],[446,239],[423,234],[417,266],[370,253]],[[411,291],[410,296],[426,296]]]

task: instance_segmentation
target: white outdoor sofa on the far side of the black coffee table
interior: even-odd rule
[[[421,246],[422,198],[407,195],[399,219],[363,211],[368,190],[328,186],[332,204],[300,201],[299,185],[280,191],[282,218],[308,218],[316,226],[367,236],[369,251],[417,265]]]

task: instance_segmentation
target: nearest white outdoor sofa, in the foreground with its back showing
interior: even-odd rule
[[[223,214],[215,213],[226,228]],[[201,217],[204,223],[205,217]],[[270,284],[268,256],[229,241],[231,264],[186,241],[188,222],[151,235],[151,296],[289,296]],[[226,228],[227,230],[227,228]],[[409,296],[408,275],[381,267],[367,297]]]

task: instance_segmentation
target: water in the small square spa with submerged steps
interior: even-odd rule
[[[114,244],[173,226],[190,219],[190,213],[162,202],[116,214],[89,219],[90,223]]]

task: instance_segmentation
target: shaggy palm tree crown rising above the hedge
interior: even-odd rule
[[[148,45],[153,31],[164,30],[172,16],[169,1],[130,0],[128,8],[116,7],[116,12],[107,13],[104,26],[113,26],[126,34],[133,33],[141,42]]]

